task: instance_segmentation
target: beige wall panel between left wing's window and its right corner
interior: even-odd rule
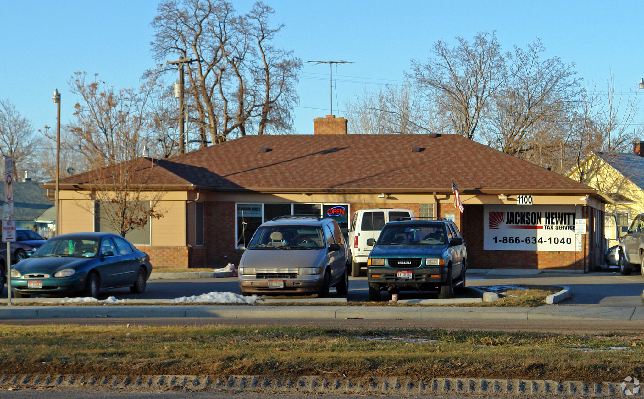
[[[152,245],[185,246],[185,201],[160,201],[157,209],[167,212],[152,220]]]

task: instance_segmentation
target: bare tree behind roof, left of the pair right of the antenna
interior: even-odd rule
[[[435,103],[444,118],[442,129],[473,139],[488,101],[502,88],[504,57],[495,33],[480,32],[470,44],[457,36],[452,48],[437,41],[434,57],[422,63],[412,60],[413,84]]]

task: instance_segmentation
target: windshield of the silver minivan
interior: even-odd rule
[[[252,236],[248,249],[306,250],[325,248],[317,226],[263,226]]]

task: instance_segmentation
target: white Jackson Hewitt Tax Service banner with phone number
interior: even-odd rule
[[[570,205],[484,205],[485,250],[574,251]]]

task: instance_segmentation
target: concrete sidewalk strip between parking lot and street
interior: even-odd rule
[[[398,306],[0,306],[2,319],[213,317],[247,319],[644,320],[644,306],[556,305],[538,308]]]

